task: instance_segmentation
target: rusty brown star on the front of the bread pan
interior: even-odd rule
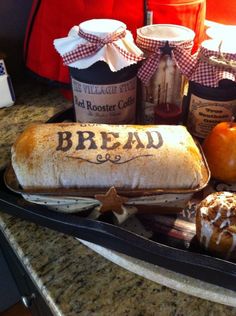
[[[96,194],[95,199],[101,202],[101,213],[113,211],[122,214],[122,205],[128,201],[128,198],[117,194],[115,187],[111,187],[105,194]]]

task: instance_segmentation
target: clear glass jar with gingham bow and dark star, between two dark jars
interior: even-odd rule
[[[178,124],[182,117],[183,76],[189,71],[194,32],[173,24],[153,24],[137,30],[137,45],[146,60],[139,69],[145,124]]]

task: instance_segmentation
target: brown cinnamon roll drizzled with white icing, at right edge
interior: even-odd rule
[[[211,254],[236,260],[236,194],[215,192],[197,206],[196,234]]]

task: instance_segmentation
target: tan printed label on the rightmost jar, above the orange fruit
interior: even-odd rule
[[[236,100],[212,101],[192,94],[187,126],[193,135],[205,138],[220,122],[230,121],[236,114]]]

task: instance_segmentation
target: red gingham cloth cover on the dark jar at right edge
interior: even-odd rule
[[[188,76],[189,80],[213,88],[218,87],[222,79],[236,82],[236,51],[235,53],[220,52],[219,45],[220,42],[215,40],[202,43],[198,53],[193,57],[193,69]],[[209,48],[214,46],[216,49]]]

